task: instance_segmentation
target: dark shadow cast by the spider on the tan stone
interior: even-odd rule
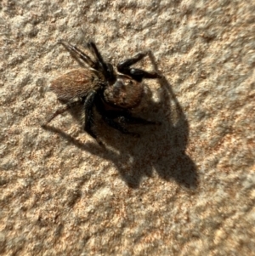
[[[158,71],[152,54],[150,54],[150,60],[154,69]],[[189,136],[188,121],[167,79],[162,77],[159,82],[161,84],[160,104],[150,102],[150,113],[153,110],[156,111],[154,117],[153,114],[150,115],[150,119],[160,120],[162,125],[143,126],[140,139],[130,138],[110,128],[111,139],[104,139],[105,144],[114,148],[114,151],[100,149],[96,143],[84,145],[58,128],[48,127],[48,129],[62,135],[82,150],[113,162],[122,179],[130,187],[139,187],[141,179],[152,176],[155,169],[161,179],[174,179],[186,188],[195,189],[198,185],[195,163],[185,154]],[[173,116],[175,116],[174,122]],[[104,137],[104,134],[100,133],[99,136]],[[151,138],[152,136],[154,137]]]

